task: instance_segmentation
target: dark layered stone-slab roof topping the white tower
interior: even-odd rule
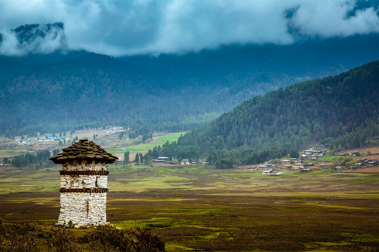
[[[105,161],[106,164],[113,164],[113,162],[118,159],[116,156],[100,148],[100,145],[88,141],[88,139],[81,139],[75,144],[64,148],[62,151],[63,152],[51,157],[49,160],[52,160],[55,164],[63,164],[69,160],[95,159]]]

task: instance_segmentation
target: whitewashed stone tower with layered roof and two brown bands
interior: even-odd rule
[[[81,227],[106,223],[106,164],[113,164],[118,158],[88,139],[62,151],[50,158],[55,164],[62,164],[57,224]]]

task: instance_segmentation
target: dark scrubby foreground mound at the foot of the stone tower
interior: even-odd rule
[[[0,251],[166,251],[163,239],[140,228],[61,228],[0,219]]]

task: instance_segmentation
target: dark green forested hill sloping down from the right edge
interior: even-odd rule
[[[312,140],[359,147],[378,136],[378,62],[255,96],[177,144],[210,152],[211,162],[233,157],[245,163],[280,158]]]

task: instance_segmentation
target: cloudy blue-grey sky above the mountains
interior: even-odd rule
[[[379,32],[376,2],[1,0],[0,50],[27,53],[31,49],[17,45],[7,30],[54,22],[64,23],[64,34],[39,42],[41,52],[60,46],[64,35],[69,49],[113,56],[185,53],[230,43],[284,45],[299,37]]]

